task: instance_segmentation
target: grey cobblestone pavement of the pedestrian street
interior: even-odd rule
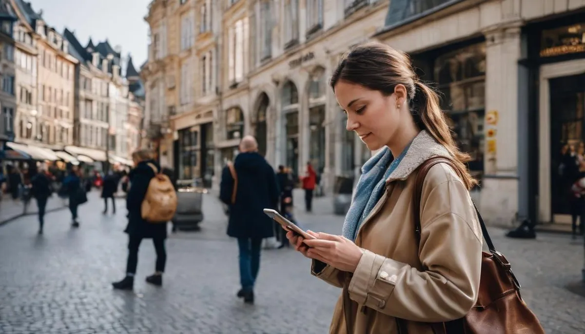
[[[102,215],[97,196],[80,208],[80,229],[70,228],[66,210],[47,215],[43,236],[36,235],[35,216],[0,228],[0,333],[327,332],[340,291],[311,277],[309,261],[290,249],[263,252],[255,305],[235,297],[236,243],[225,236],[225,215],[211,195],[204,199],[203,230],[168,239],[162,288],[144,282],[154,269],[152,243],[144,242],[135,291],[113,291],[110,283],[122,277],[126,260],[125,210]],[[122,199],[117,204],[123,208]],[[297,212],[307,228],[340,231],[339,216]],[[510,240],[492,232],[547,333],[584,333],[585,299],[565,289],[580,279],[583,240]]]

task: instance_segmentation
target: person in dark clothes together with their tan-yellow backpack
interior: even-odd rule
[[[160,173],[160,166],[152,159],[150,150],[132,153],[135,168],[130,171],[130,188],[126,196],[128,209],[128,261],[126,277],[112,283],[113,288],[132,290],[138,263],[138,250],[142,239],[152,239],[156,252],[154,274],[146,282],[163,285],[167,252],[164,241],[167,238],[167,222],[177,209],[177,194],[169,178]]]

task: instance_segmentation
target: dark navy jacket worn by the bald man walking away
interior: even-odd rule
[[[219,198],[230,206],[228,235],[260,239],[273,236],[273,221],[263,211],[277,209],[278,205],[280,191],[273,168],[255,152],[238,154],[233,165],[238,176],[235,204],[231,204],[233,178],[227,166],[219,190]]]

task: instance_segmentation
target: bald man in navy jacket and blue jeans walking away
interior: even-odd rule
[[[274,169],[258,153],[253,136],[243,137],[239,152],[233,170],[230,166],[223,168],[219,198],[229,205],[228,236],[238,239],[242,287],[237,295],[253,304],[262,239],[274,235],[273,222],[263,209],[278,209],[280,193]]]

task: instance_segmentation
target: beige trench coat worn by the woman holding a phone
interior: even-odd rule
[[[346,321],[351,334],[398,333],[398,317],[408,320],[409,334],[432,334],[425,322],[462,318],[476,302],[481,228],[469,192],[446,164],[433,166],[426,175],[417,245],[412,216],[415,170],[434,156],[450,157],[422,131],[357,232],[355,242],[364,253],[353,275],[313,261],[314,276],[339,288],[345,284],[349,292],[349,310],[343,309],[342,292],[329,333],[346,334]]]

